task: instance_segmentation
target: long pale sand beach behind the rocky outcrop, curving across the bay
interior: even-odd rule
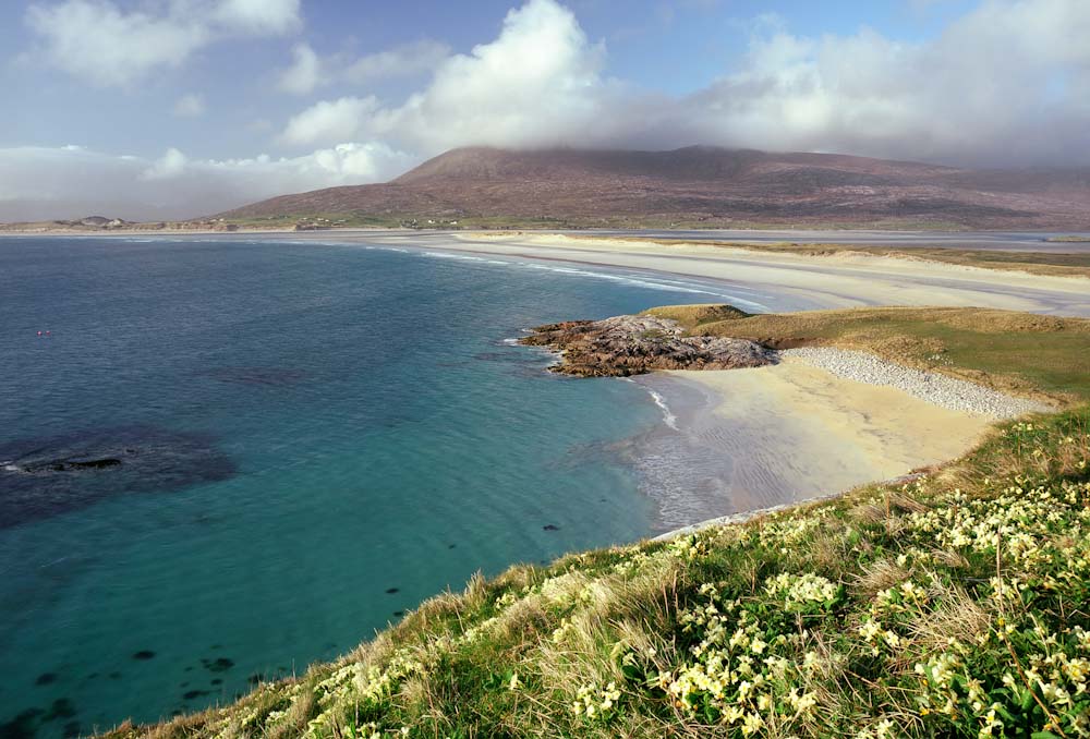
[[[712,278],[782,294],[814,307],[954,305],[1090,316],[1088,280],[845,254],[810,257],[701,243],[655,244],[562,234],[457,234],[450,249],[554,258]]]

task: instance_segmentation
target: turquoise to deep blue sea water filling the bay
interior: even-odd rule
[[[712,293],[438,256],[0,240],[0,734],[228,701],[649,533],[618,449],[659,410],[505,340]]]

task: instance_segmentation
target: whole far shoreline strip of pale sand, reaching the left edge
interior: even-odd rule
[[[754,233],[761,233],[755,231]],[[184,241],[221,238],[368,243],[508,257],[529,262],[559,262],[597,268],[697,278],[731,288],[771,291],[789,303],[768,310],[858,307],[867,305],[945,305],[1024,311],[1044,315],[1090,317],[1090,290],[1082,277],[1032,275],[896,256],[840,254],[801,256],[770,251],[701,243],[639,241],[640,234],[580,233],[573,239],[555,231],[522,234],[474,231],[414,231],[402,229],[330,229],[324,231],[179,231],[27,233],[0,231],[2,237],[147,239]],[[906,239],[917,234],[905,232]],[[835,241],[836,232],[828,232]],[[860,242],[862,243],[862,242]]]

